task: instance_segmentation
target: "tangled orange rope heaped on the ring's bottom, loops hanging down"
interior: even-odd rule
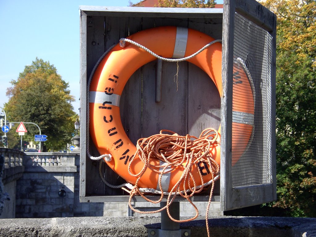
[[[138,213],[146,214],[146,213],[157,213],[164,209],[167,209],[169,218],[173,220],[174,222],[187,222],[187,221],[196,219],[198,216],[198,209],[192,203],[190,197],[192,197],[195,193],[201,192],[203,190],[204,181],[202,178],[201,171],[197,169],[199,172],[199,176],[201,178],[201,183],[202,183],[200,187],[197,187],[196,181],[191,174],[191,170],[192,170],[193,165],[195,165],[199,161],[203,161],[208,164],[209,170],[212,174],[212,187],[210,191],[210,197],[209,197],[209,202],[208,202],[206,216],[205,216],[206,228],[207,228],[207,232],[209,236],[208,211],[210,208],[210,201],[211,201],[213,190],[214,190],[214,181],[215,181],[214,177],[220,171],[219,164],[210,155],[210,149],[212,148],[212,146],[219,145],[219,143],[217,142],[218,136],[219,136],[218,132],[215,129],[207,128],[201,132],[199,137],[194,137],[190,135],[180,136],[173,131],[161,130],[160,134],[155,134],[148,138],[139,139],[136,144],[137,151],[135,155],[133,156],[133,158],[131,159],[129,163],[129,167],[128,167],[130,175],[137,177],[137,181],[131,191],[123,188],[124,190],[130,193],[129,206],[131,210]],[[141,161],[143,161],[143,164],[144,164],[143,169],[137,174],[131,173],[131,170],[130,170],[131,164],[133,163],[133,160],[135,159],[135,157],[139,157],[139,159],[141,159]],[[167,163],[167,165],[164,165],[164,166],[151,165],[149,163],[151,159],[158,159],[160,161],[164,161]],[[182,166],[184,168],[184,171],[179,181],[173,186],[172,190],[169,193],[164,193],[162,191],[161,175],[159,176],[158,184],[161,190],[161,197],[159,198],[159,200],[157,201],[150,200],[148,197],[145,196],[146,193],[140,191],[138,187],[138,182],[142,178],[142,175],[146,171],[146,169],[149,168],[156,173],[163,174],[163,173],[172,172],[175,169],[175,167],[178,167],[178,166]],[[162,168],[161,171],[160,171],[160,168]],[[190,185],[190,180],[194,184],[193,186]],[[185,187],[187,186],[189,186],[189,190],[185,190]],[[181,191],[181,190],[184,190],[184,191]],[[161,202],[163,196],[166,194],[168,194],[167,204],[165,207],[162,207],[159,210],[140,211],[140,210],[136,210],[131,205],[132,198],[135,195],[142,196],[148,202],[159,203]],[[194,207],[196,211],[196,215],[194,217],[190,219],[186,219],[186,220],[176,220],[170,215],[169,206],[174,201],[177,195],[184,197]]]

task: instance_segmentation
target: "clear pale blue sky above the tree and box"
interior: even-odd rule
[[[132,3],[139,1],[132,0]],[[222,3],[222,1],[217,1]],[[129,0],[0,0],[0,106],[10,81],[36,57],[54,64],[69,83],[79,113],[79,6],[128,6]]]

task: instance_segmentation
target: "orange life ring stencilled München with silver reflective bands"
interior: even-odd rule
[[[214,39],[196,30],[180,27],[156,27],[143,30],[129,36],[140,45],[150,49],[164,58],[184,58],[197,52],[203,46]],[[136,152],[135,145],[127,137],[119,114],[119,100],[124,86],[132,74],[144,64],[156,58],[145,50],[126,43],[124,48],[116,45],[100,62],[95,70],[90,85],[90,135],[100,154],[111,154],[112,160],[106,161],[109,167],[118,173],[127,182],[135,184],[137,177],[128,172],[131,157]],[[187,60],[200,67],[215,83],[219,94],[222,96],[222,44],[214,43],[193,58]],[[246,146],[252,133],[252,125],[244,122],[244,114],[253,114],[252,87],[243,69],[244,65],[238,61],[234,64],[234,83],[240,89],[240,94],[234,95],[234,100],[245,101],[235,103],[234,113],[238,118],[234,121],[236,129],[241,131],[238,144],[233,146]],[[253,115],[252,115],[253,116]],[[219,128],[220,133],[220,128]],[[210,154],[217,163],[220,163],[220,146],[214,145]],[[159,165],[160,161],[151,159],[153,165]],[[202,164],[203,167],[204,164]],[[139,158],[133,159],[131,172],[137,174],[144,164]],[[208,170],[207,165],[205,170]],[[191,169],[193,178],[201,182],[201,164],[194,164]],[[159,170],[159,168],[157,168]],[[176,167],[172,172],[162,174],[164,185],[163,191],[170,191],[183,173],[183,166]],[[203,173],[203,172],[202,172]],[[204,182],[212,179],[210,172],[204,172]],[[158,189],[159,174],[147,169],[138,182],[139,187]],[[167,181],[166,181],[167,180]],[[190,181],[190,185],[192,182]],[[201,185],[201,183],[196,183]],[[158,186],[159,187],[159,186]]]

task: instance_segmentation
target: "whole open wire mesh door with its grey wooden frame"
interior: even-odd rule
[[[223,15],[230,22],[230,27],[223,29],[223,65],[228,65],[223,67],[223,210],[276,198],[275,16],[259,3],[249,3],[244,9],[241,1],[230,1]],[[258,7],[274,25],[258,24]]]

